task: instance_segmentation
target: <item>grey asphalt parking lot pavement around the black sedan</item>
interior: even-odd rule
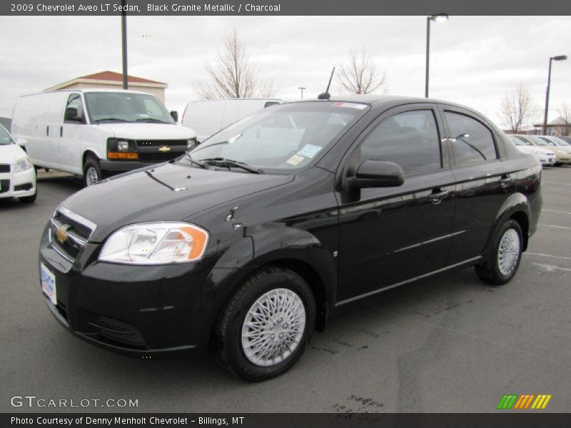
[[[39,237],[81,185],[39,181],[35,204],[0,200],[1,412],[494,412],[503,394],[552,394],[571,409],[571,167],[546,168],[540,227],[512,282],[473,270],[345,307],[293,370],[253,384],[208,356],[136,360],[86,344],[52,318]],[[136,399],[136,408],[11,407],[10,397]]]

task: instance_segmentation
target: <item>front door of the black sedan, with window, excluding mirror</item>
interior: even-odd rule
[[[352,148],[343,168],[392,161],[405,171],[405,183],[338,190],[340,303],[447,264],[455,183],[441,136],[438,108],[422,103],[383,113]]]

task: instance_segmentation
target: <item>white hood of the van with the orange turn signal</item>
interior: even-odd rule
[[[113,122],[99,123],[97,126],[113,137],[130,140],[187,140],[196,136],[191,128],[171,123]]]

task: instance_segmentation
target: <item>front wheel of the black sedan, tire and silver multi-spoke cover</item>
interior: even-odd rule
[[[276,300],[290,313],[268,306]],[[297,310],[292,311],[290,305]],[[250,381],[276,377],[303,354],[315,327],[315,312],[313,293],[300,275],[279,267],[259,270],[243,282],[218,320],[216,360]]]

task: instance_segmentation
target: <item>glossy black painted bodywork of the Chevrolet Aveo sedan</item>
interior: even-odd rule
[[[526,239],[535,231],[540,165],[505,143],[502,132],[482,116],[463,110],[492,129],[500,158],[456,168],[438,101],[367,96],[335,101],[365,102],[371,108],[295,175],[164,163],[106,180],[64,201],[65,208],[97,228],[74,263],[51,247],[48,228],[44,232],[40,259],[56,275],[59,305],[48,302],[54,315],[71,332],[111,350],[188,352],[208,345],[228,299],[262,265],[288,267],[305,277],[323,326],[343,300],[450,265],[477,263],[507,218],[527,223],[522,227]],[[400,187],[350,188],[347,179],[360,165],[360,141],[383,118],[415,108],[435,112],[443,168],[406,177]],[[118,228],[166,220],[208,230],[202,260],[155,266],[97,260],[103,242]],[[98,337],[90,322],[100,315],[133,326],[144,347]]]

